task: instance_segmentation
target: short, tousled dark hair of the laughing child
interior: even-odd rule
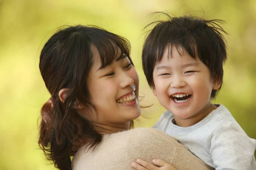
[[[177,50],[181,46],[194,59],[198,56],[209,68],[212,79],[222,84],[223,64],[227,59],[226,40],[222,33],[227,33],[219,23],[224,21],[204,20],[192,16],[171,17],[163,12],[156,13],[165,14],[169,20],[148,24],[148,26],[156,24],[149,31],[142,52],[143,71],[148,85],[154,88],[153,71],[162,59],[166,45],[169,45],[171,51],[172,45]],[[220,89],[221,86],[218,90],[212,90],[212,99]]]

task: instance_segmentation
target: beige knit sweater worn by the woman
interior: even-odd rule
[[[177,170],[212,170],[177,140],[153,128],[135,128],[103,136],[96,150],[81,147],[72,161],[73,170],[134,170],[131,163],[163,159]]]

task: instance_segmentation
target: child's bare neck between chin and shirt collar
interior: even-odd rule
[[[197,124],[201,120],[203,120],[206,116],[209,115],[213,110],[215,110],[217,107],[213,105],[211,102],[199,113],[197,113],[195,116],[188,118],[188,119],[179,119],[174,116],[175,119],[175,125],[181,126],[181,127],[189,127],[192,125]]]

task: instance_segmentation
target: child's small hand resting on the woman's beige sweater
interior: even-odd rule
[[[141,159],[137,159],[137,162],[133,162],[131,166],[137,170],[176,170],[171,164],[161,159],[153,159],[153,163],[158,167]]]

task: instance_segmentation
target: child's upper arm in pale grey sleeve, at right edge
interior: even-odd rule
[[[218,127],[211,138],[210,154],[216,170],[256,170],[256,141],[232,122]]]

